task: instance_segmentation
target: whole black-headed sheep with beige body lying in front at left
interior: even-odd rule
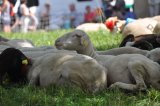
[[[50,53],[28,59],[20,50],[7,48],[0,54],[0,82],[7,73],[13,83],[29,81],[41,87],[77,85],[85,91],[105,89],[106,70],[91,57],[75,53]]]

